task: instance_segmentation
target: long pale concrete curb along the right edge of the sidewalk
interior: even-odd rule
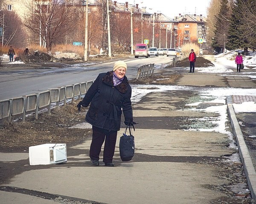
[[[232,102],[230,103],[230,100],[227,100],[227,109],[233,128],[233,133],[236,136],[236,142],[239,148],[239,155],[244,166],[244,174],[247,178],[249,190],[251,192],[252,198],[254,199],[254,201],[256,201],[256,172],[253,167],[253,162],[250,158],[249,150],[247,148],[247,145],[245,144],[244,136],[241,131],[240,125],[238,123],[238,120],[236,119],[236,113],[234,111]]]

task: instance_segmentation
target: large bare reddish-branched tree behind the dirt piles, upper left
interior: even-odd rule
[[[35,4],[26,5],[28,12],[24,26],[43,39],[47,52],[50,53],[52,44],[73,30],[72,0],[33,2]]]

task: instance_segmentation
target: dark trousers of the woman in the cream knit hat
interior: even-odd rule
[[[115,153],[117,131],[108,132],[93,126],[93,139],[90,145],[90,159],[99,160],[99,153],[105,140],[103,162],[111,163]]]

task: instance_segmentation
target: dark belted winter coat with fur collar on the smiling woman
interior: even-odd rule
[[[119,85],[114,86],[113,71],[99,74],[81,105],[87,107],[89,104],[85,120],[95,127],[108,131],[120,130],[122,111],[125,121],[133,121],[131,86],[126,76]]]

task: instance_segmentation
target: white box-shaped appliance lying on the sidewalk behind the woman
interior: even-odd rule
[[[29,164],[45,165],[67,162],[66,144],[40,144],[29,147]]]

